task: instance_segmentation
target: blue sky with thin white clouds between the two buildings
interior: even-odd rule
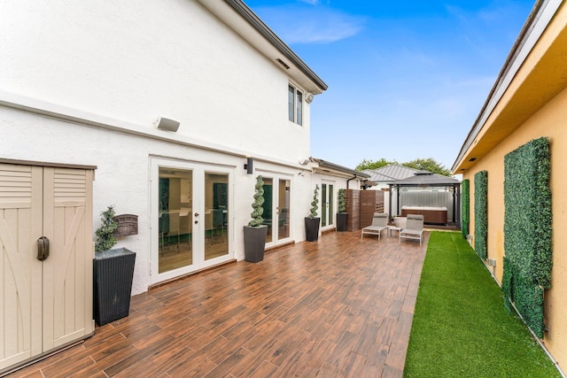
[[[311,154],[451,168],[534,0],[245,0],[329,89]]]

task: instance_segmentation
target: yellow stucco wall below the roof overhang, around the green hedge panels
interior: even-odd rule
[[[546,136],[551,146],[553,211],[552,288],[545,293],[544,342],[563,369],[567,367],[567,89],[527,120],[522,127],[479,160],[463,179],[470,180],[470,233],[474,235],[474,174],[488,172],[488,258],[497,261],[495,277],[501,282],[504,256],[504,156],[532,139]],[[474,246],[474,243],[472,244]]]

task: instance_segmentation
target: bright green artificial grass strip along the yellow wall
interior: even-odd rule
[[[431,232],[404,377],[561,377],[458,232]]]

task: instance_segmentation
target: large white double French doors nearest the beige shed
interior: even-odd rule
[[[151,160],[151,283],[233,258],[231,175],[222,166]]]

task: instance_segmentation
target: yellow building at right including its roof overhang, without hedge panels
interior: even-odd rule
[[[567,4],[555,12],[498,104],[485,120],[455,173],[470,180],[470,234],[474,236],[474,175],[488,172],[488,258],[502,279],[504,256],[504,156],[540,137],[551,150],[552,288],[545,292],[543,342],[567,371]],[[472,159],[475,158],[475,159]],[[471,161],[472,160],[472,161]],[[474,240],[472,243],[474,247]],[[492,267],[491,267],[492,269]]]

